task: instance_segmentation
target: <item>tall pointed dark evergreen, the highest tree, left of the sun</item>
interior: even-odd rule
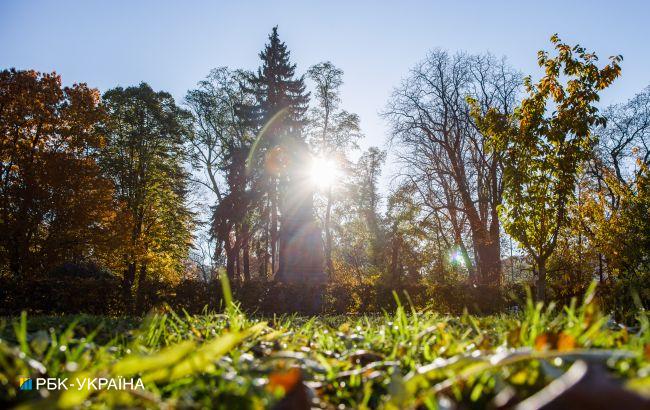
[[[304,76],[296,77],[296,65],[280,41],[277,26],[260,53],[262,66],[249,75],[245,88],[256,103],[242,106],[240,115],[258,133],[251,157],[262,159],[263,190],[268,207],[271,270],[278,278],[291,274],[322,273],[322,239],[313,221],[313,189],[306,179],[309,150],[303,136],[309,93]],[[281,220],[280,220],[281,219]],[[279,229],[278,229],[279,228]],[[303,260],[295,255],[303,254]]]

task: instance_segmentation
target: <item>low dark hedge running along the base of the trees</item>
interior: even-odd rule
[[[650,300],[647,283],[650,283],[647,275],[634,281],[612,281],[600,287],[601,299],[618,320],[630,320],[627,316],[631,314],[626,312],[636,310],[630,289],[637,290],[647,308]],[[473,285],[458,278],[434,281],[427,277],[391,284],[379,274],[362,277],[337,274],[324,287],[254,279],[233,283],[231,288],[243,311],[259,315],[381,313],[395,309],[395,294],[403,305],[416,309],[492,314],[503,312],[526,298],[523,284],[499,288]],[[167,306],[191,314],[206,308],[209,311],[223,308],[219,281],[187,279],[177,284],[147,281],[142,296],[140,314]],[[130,314],[124,308],[122,297],[119,277],[87,265],[65,265],[41,278],[22,282],[0,277],[1,315],[15,315],[23,310],[41,314]]]

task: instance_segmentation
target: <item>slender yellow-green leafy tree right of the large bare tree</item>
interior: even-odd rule
[[[570,47],[551,37],[557,55],[538,53],[544,76],[525,80],[528,96],[512,115],[490,109],[485,115],[476,101],[473,116],[490,135],[504,158],[504,228],[532,256],[536,265],[536,297],[546,297],[546,262],[574,196],[580,167],[593,147],[592,127],[603,124],[594,103],[599,92],[620,74],[621,57],[600,69],[598,58],[583,47]]]

